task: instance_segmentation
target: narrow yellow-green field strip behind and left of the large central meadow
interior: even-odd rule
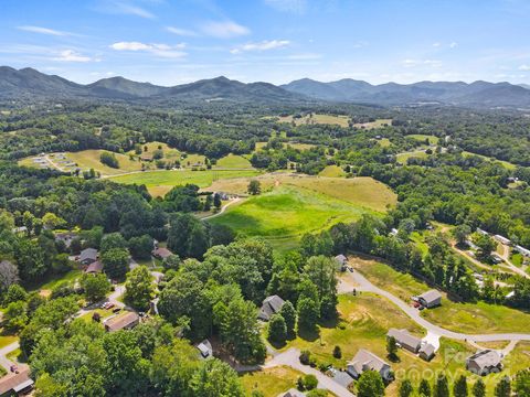
[[[184,185],[188,183],[195,184],[200,187],[206,187],[212,182],[242,176],[258,175],[259,172],[255,170],[206,170],[206,171],[191,171],[191,170],[162,170],[162,171],[146,171],[138,172],[129,175],[119,175],[112,178],[110,180],[117,183],[125,184],[145,184],[153,196],[163,196],[172,187],[178,185]]]

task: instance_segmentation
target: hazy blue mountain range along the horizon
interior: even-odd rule
[[[232,103],[358,103],[381,106],[426,104],[465,107],[530,108],[526,85],[488,82],[418,82],[372,85],[341,79],[321,83],[303,78],[275,86],[269,83],[241,83],[226,77],[163,87],[110,77],[82,85],[33,68],[0,66],[0,98],[109,99],[147,101],[232,101]]]

